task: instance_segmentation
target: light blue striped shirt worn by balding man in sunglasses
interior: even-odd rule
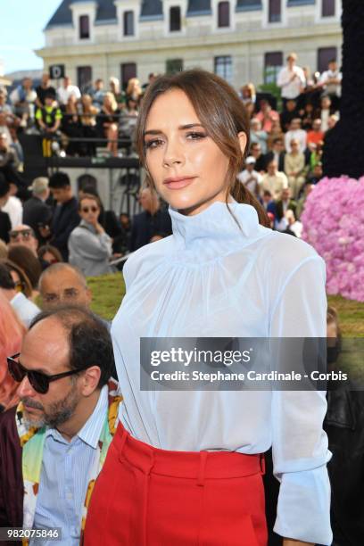
[[[61,527],[60,546],[79,546],[82,507],[89,471],[108,410],[108,391],[104,385],[95,409],[79,433],[67,442],[56,429],[45,433],[34,528]],[[54,546],[37,540],[31,545]]]

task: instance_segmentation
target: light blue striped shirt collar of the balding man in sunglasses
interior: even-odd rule
[[[82,442],[87,443],[87,445],[94,449],[96,449],[97,443],[100,439],[107,411],[108,388],[107,385],[103,385],[94,411],[87,419],[85,425],[82,426],[82,428],[79,430],[79,433],[77,434]],[[45,432],[45,437],[53,436],[54,438],[56,438],[59,437],[59,435],[60,433],[54,428],[48,428]]]

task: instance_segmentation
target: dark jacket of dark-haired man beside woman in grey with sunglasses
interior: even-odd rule
[[[67,244],[70,232],[79,225],[79,220],[79,205],[75,197],[72,197],[67,203],[58,204],[55,207],[50,243],[58,248],[64,261],[68,261]]]

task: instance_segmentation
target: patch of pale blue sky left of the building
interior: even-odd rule
[[[0,0],[0,62],[4,74],[41,70],[43,60],[33,53],[45,45],[43,29],[62,0]]]

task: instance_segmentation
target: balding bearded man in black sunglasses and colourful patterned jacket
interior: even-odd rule
[[[57,543],[79,544],[118,421],[112,365],[109,332],[88,310],[44,311],[30,325],[8,358],[21,402],[0,415],[0,526],[60,527]]]

